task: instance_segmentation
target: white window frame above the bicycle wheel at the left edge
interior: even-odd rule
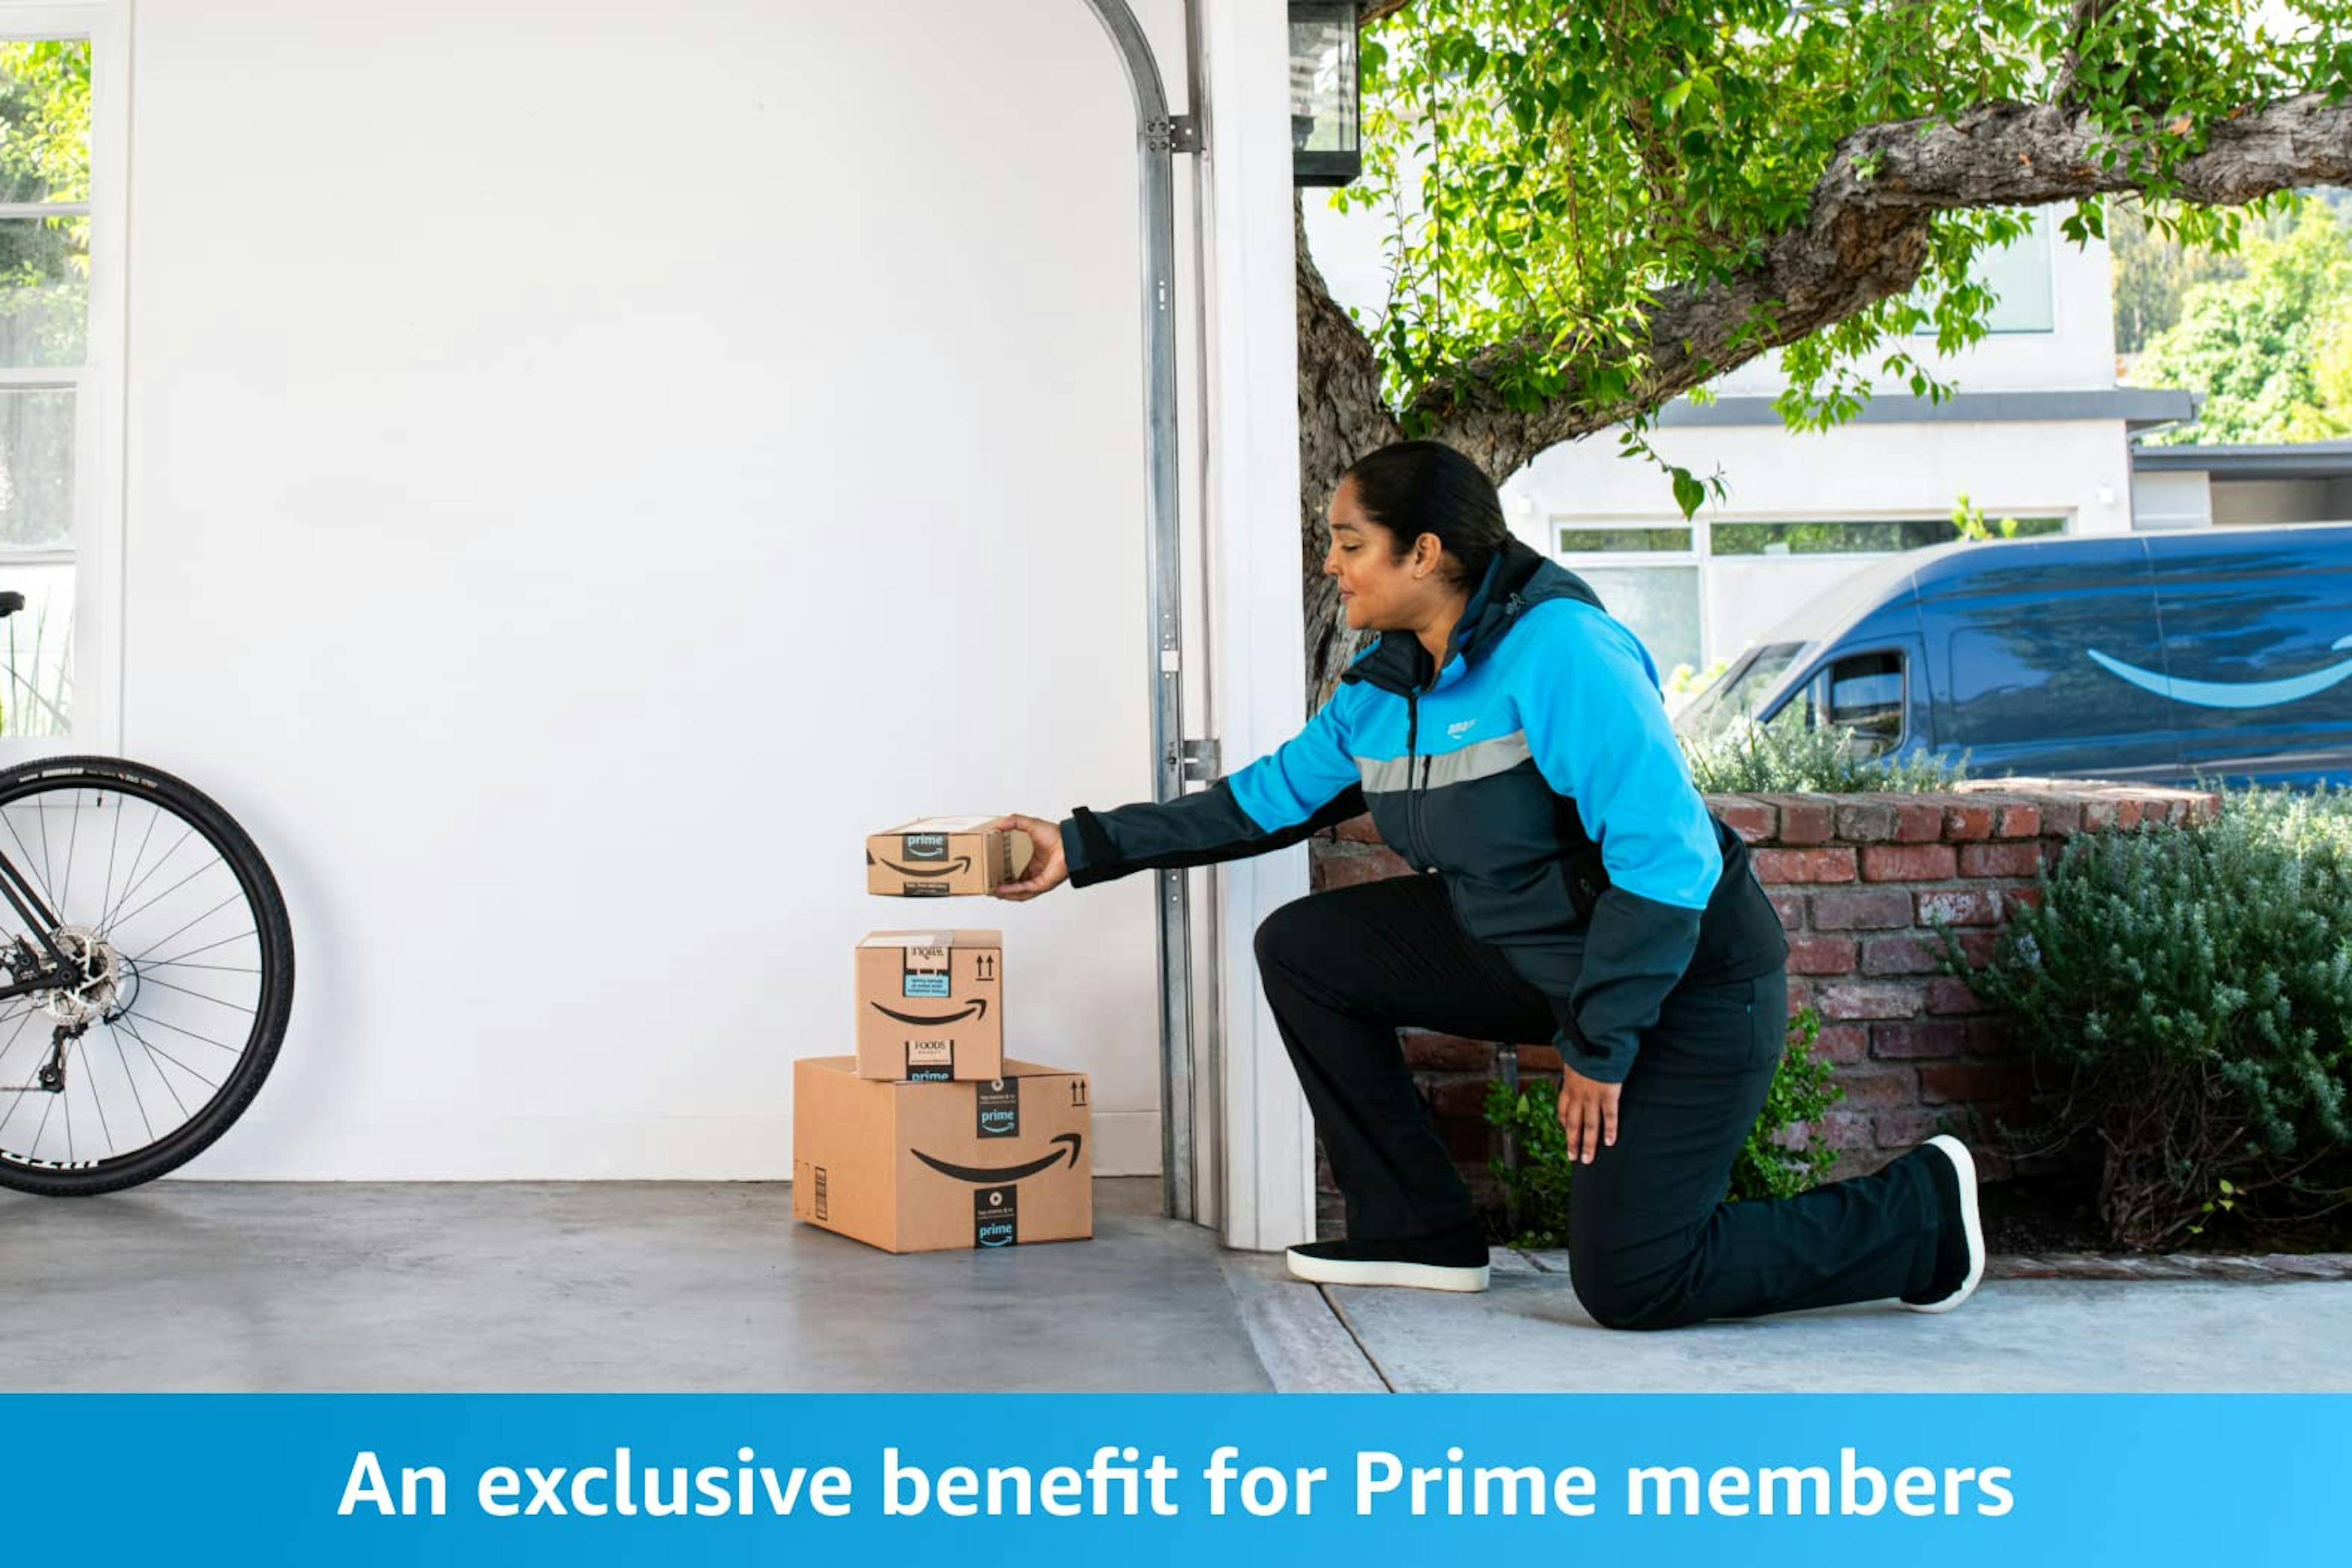
[[[129,5],[0,0],[0,42],[89,40],[89,320],[78,367],[0,369],[7,390],[73,393],[73,731],[0,733],[0,766],[122,750],[125,329],[129,237]],[[14,212],[0,207],[0,214]],[[24,214],[31,216],[31,209]],[[5,559],[5,557],[0,557]]]

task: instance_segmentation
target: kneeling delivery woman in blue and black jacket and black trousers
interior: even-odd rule
[[[1604,1326],[1966,1300],[1985,1246],[1955,1138],[1724,1204],[1788,1034],[1788,938],[1691,783],[1639,639],[1510,536],[1451,447],[1374,451],[1329,517],[1348,625],[1381,632],[1331,701],[1207,792],[1004,818],[1037,856],[997,889],[1235,860],[1364,809],[1421,872],[1312,893],[1258,929],[1265,999],[1348,1199],[1348,1239],[1294,1246],[1291,1274],[1486,1286],[1477,1211],[1397,1044],[1411,1025],[1559,1046],[1581,1164],[1569,1279]]]

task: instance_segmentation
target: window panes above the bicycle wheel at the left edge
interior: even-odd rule
[[[0,736],[73,733],[89,54],[0,38],[0,590],[26,599],[0,621]]]

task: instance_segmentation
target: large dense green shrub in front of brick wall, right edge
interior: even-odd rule
[[[2216,1206],[2303,1218],[2352,1143],[2352,790],[2225,792],[2192,827],[2074,837],[1971,973],[2056,1079],[2049,1145],[2100,1147],[2112,1239],[2161,1248]]]

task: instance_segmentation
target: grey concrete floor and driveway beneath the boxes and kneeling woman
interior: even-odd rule
[[[0,1194],[16,1392],[2352,1389],[2352,1284],[1997,1281],[1606,1333],[1552,1253],[1484,1295],[1317,1291],[1096,1182],[1096,1237],[891,1258],[781,1182],[158,1182]]]

